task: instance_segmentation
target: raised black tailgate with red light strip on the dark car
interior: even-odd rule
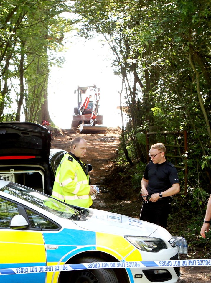
[[[0,123],[0,162],[36,158],[48,162],[51,132],[32,122]]]

